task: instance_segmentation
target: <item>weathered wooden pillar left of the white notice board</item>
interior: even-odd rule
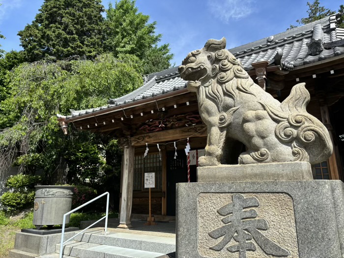
[[[120,201],[119,226],[117,228],[130,229],[131,208],[133,204],[133,181],[134,181],[134,147],[128,138],[121,138],[119,145],[123,148],[122,160],[122,195]]]

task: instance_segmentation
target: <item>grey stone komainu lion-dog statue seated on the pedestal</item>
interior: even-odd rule
[[[280,103],[225,47],[225,38],[209,39],[179,66],[188,89],[197,93],[207,126],[200,166],[233,164],[238,157],[239,164],[326,160],[332,143],[325,126],[306,111],[310,94],[305,84],[295,85]],[[242,143],[247,151],[240,154]]]

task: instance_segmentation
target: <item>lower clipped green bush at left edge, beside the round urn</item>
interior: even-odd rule
[[[0,197],[5,209],[9,211],[21,210],[33,206],[35,191],[6,192]]]

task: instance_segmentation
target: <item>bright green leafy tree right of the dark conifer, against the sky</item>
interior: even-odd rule
[[[110,3],[106,13],[105,51],[115,57],[121,54],[139,57],[144,74],[170,67],[173,55],[169,44],[157,46],[162,35],[155,34],[156,22],[148,23],[149,16],[139,12],[135,0],[120,0],[115,8]]]

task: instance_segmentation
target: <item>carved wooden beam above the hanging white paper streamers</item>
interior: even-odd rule
[[[204,124],[138,135],[132,137],[131,141],[133,146],[141,146],[146,143],[177,141],[188,137],[200,136],[206,136],[206,126]]]

